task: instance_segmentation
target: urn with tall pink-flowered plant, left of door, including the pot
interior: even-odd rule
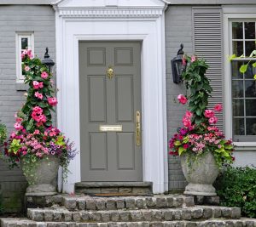
[[[10,167],[21,164],[29,184],[26,195],[54,195],[59,166],[67,176],[67,166],[77,151],[52,126],[51,111],[57,105],[52,74],[41,60],[33,58],[31,50],[25,50],[21,57],[24,81],[29,88],[25,105],[15,115],[15,131],[10,134],[4,153]]]

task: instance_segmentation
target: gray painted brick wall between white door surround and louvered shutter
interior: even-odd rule
[[[180,43],[184,52],[192,54],[192,8],[171,5],[166,9],[166,94],[168,139],[182,126],[185,108],[177,103],[177,94],[185,94],[184,84],[172,82],[171,60],[177,56]],[[185,180],[179,157],[169,156],[169,190],[183,190]]]

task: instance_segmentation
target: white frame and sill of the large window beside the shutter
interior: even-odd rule
[[[256,6],[224,6],[223,21],[224,21],[224,132],[227,139],[232,138],[232,94],[231,94],[231,68],[228,56],[232,52],[232,42],[230,42],[232,34],[232,21],[235,20],[255,20],[256,21]],[[251,147],[251,150],[256,148],[255,142],[234,142],[239,147]],[[253,149],[254,148],[254,149]],[[256,149],[255,149],[256,150]]]

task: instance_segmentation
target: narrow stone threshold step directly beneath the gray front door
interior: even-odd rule
[[[75,193],[151,195],[152,182],[79,182],[75,184]]]

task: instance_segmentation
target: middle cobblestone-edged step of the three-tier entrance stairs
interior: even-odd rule
[[[33,221],[55,222],[137,222],[196,220],[207,218],[241,218],[238,207],[195,206],[185,208],[140,209],[116,211],[73,211],[66,207],[27,209]]]

